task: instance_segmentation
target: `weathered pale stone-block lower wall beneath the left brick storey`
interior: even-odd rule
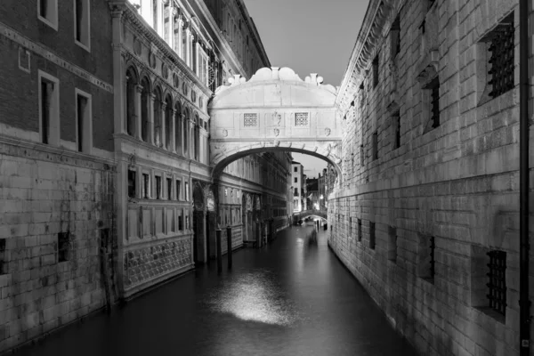
[[[113,263],[102,236],[114,233],[115,182],[100,160],[5,138],[0,169],[2,352],[114,299],[112,265],[101,266]]]

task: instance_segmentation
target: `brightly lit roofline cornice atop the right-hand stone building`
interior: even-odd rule
[[[336,106],[342,111],[347,109],[357,92],[356,86],[363,80],[362,72],[368,69],[372,56],[376,53],[376,46],[389,31],[390,27],[385,26],[388,18],[405,2],[406,0],[371,0],[368,4],[336,99]]]

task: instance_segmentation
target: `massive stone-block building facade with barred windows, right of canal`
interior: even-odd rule
[[[338,93],[329,244],[424,355],[519,354],[517,4],[371,0]]]

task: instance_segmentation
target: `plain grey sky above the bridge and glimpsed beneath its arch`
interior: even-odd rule
[[[289,67],[302,79],[341,85],[368,0],[245,0],[273,67]],[[293,153],[304,174],[317,177],[327,162]]]

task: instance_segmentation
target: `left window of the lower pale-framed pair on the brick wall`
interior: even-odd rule
[[[60,82],[39,70],[39,131],[41,142],[60,143]]]

